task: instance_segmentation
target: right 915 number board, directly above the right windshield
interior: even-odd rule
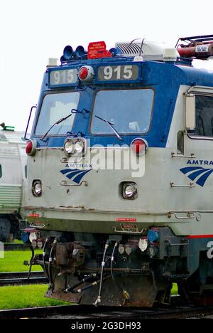
[[[137,80],[137,65],[101,66],[98,69],[99,81]]]

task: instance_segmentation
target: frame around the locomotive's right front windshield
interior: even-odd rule
[[[153,89],[153,87],[107,87],[107,88],[100,88],[98,90],[96,90],[95,94],[94,94],[94,100],[92,102],[92,111],[91,111],[91,116],[89,119],[89,135],[91,137],[115,137],[116,135],[114,134],[114,132],[111,133],[94,133],[92,132],[92,120],[93,120],[93,115],[94,115],[94,103],[97,97],[97,93],[99,93],[100,91],[108,91],[108,90],[152,90],[153,91],[153,100],[152,100],[152,105],[151,105],[151,116],[150,116],[150,122],[149,122],[149,127],[148,130],[146,132],[120,132],[118,128],[114,127],[116,129],[117,132],[119,132],[119,134],[121,134],[122,137],[133,137],[133,136],[146,136],[148,134],[148,132],[150,132],[151,130],[151,124],[152,124],[152,120],[153,120],[153,108],[154,108],[154,103],[155,103],[155,90]],[[105,119],[107,121],[109,121],[109,119],[107,119],[107,117],[105,117]]]

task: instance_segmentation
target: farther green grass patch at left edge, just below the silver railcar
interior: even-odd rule
[[[35,250],[35,253],[42,253],[42,250]],[[24,260],[31,260],[31,250],[4,251],[4,259],[0,259],[0,272],[26,272],[29,266],[23,265]],[[38,265],[32,270],[42,270]]]

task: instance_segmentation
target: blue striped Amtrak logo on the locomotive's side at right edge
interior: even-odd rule
[[[213,169],[205,169],[202,166],[187,166],[180,169],[180,171],[186,174],[192,181],[195,181],[197,178],[196,184],[203,187],[210,174],[212,174]]]

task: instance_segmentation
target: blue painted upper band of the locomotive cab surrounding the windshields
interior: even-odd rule
[[[87,65],[92,65],[95,68],[95,73],[97,73],[97,68],[100,65],[109,65],[113,62],[116,62],[116,65],[123,64],[124,60],[116,60],[113,58],[110,60],[110,63],[107,62],[106,59],[103,60],[87,60],[82,63],[78,63],[78,66],[74,63],[72,65],[73,68],[80,68],[82,65],[87,63]],[[166,146],[166,142],[168,139],[168,134],[170,131],[170,124],[173,119],[173,112],[175,109],[175,102],[178,96],[178,90],[180,85],[202,85],[202,86],[212,86],[212,73],[208,70],[201,70],[197,68],[193,68],[191,66],[183,66],[177,65],[174,63],[160,63],[153,61],[145,61],[143,63],[133,62],[131,59],[127,59],[126,63],[131,63],[131,65],[139,64],[141,66],[141,70],[139,73],[141,75],[140,83],[138,80],[133,83],[125,83],[122,81],[121,83],[99,83],[94,80],[94,85],[85,85],[87,88],[85,90],[80,91],[80,103],[78,105],[78,110],[82,110],[83,108],[92,111],[92,106],[94,102],[95,93],[98,90],[104,89],[128,89],[128,88],[150,88],[154,90],[155,97],[153,103],[153,112],[151,119],[151,127],[146,135],[141,136],[140,134],[136,135],[124,135],[123,144],[130,145],[132,140],[135,137],[143,137],[148,142],[149,147],[161,147],[164,148]],[[126,64],[125,63],[125,64]],[[62,67],[62,69],[72,68],[70,66]],[[58,68],[57,68],[58,69]],[[53,70],[51,68],[50,70]],[[38,111],[40,109],[40,105],[43,100],[43,96],[49,92],[56,91],[66,91],[66,90],[75,90],[77,88],[77,84],[75,87],[64,87],[64,88],[48,88],[48,73],[50,70],[47,70],[44,76],[43,85],[40,93],[40,100],[38,102]],[[97,76],[97,75],[96,75]],[[90,87],[90,88],[89,88]],[[94,146],[95,144],[101,144],[104,147],[112,144],[121,144],[119,139],[115,135],[92,135],[89,132],[89,116],[86,117],[82,115],[76,115],[76,119],[72,128],[73,133],[78,133],[86,139],[90,139],[90,146]],[[38,117],[38,113],[35,117],[34,127],[36,123],[36,118]],[[107,117],[107,115],[106,115]],[[32,131],[33,133],[33,131]],[[64,144],[65,136],[62,137],[47,137],[45,142],[42,142],[38,137],[34,137],[32,134],[32,138],[37,139],[38,147],[62,147]]]

